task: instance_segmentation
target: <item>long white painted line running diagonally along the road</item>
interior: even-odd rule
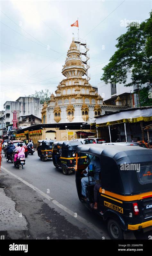
[[[4,168],[3,166],[1,166],[1,168],[7,172],[8,174],[14,176],[16,179],[20,180],[21,182],[23,182],[25,185],[29,186],[30,188],[32,188],[33,190],[37,191],[39,194],[41,194],[42,196],[44,196],[46,199],[48,199],[49,201],[51,201],[53,204],[57,205],[59,208],[61,208],[64,212],[69,213],[73,218],[74,217],[74,212],[71,211],[70,209],[68,209],[67,207],[65,207],[64,205],[60,204],[59,202],[57,202],[55,199],[53,199],[52,197],[50,197],[49,195],[45,194],[43,191],[41,191],[40,189],[38,189],[37,187],[33,186],[32,184],[30,184],[29,182],[23,180],[22,178],[20,178],[19,176],[17,176],[16,174],[10,172],[9,170],[7,170],[6,168]],[[102,237],[105,236],[105,238],[108,239],[108,237],[105,234],[101,234],[101,230],[98,229],[95,225],[89,223],[86,219],[84,219],[83,217],[81,217],[80,215],[77,214],[77,218],[75,218],[77,220],[79,220],[81,223],[85,224],[87,227],[89,227],[90,229],[92,229],[93,231],[95,231],[96,233],[98,233]]]

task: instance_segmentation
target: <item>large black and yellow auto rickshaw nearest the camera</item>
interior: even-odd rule
[[[81,154],[87,155],[88,163],[86,200],[82,196]],[[97,181],[93,180],[94,165],[90,165],[93,157],[96,157],[95,161],[98,158],[101,167],[98,191],[95,190]],[[76,149],[75,173],[80,201],[107,220],[112,239],[123,239],[128,231],[152,230],[152,150],[132,146],[80,145]],[[95,205],[94,192],[97,192],[96,210],[92,207],[92,203]]]

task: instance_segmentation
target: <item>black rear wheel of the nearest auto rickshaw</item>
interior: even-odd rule
[[[123,230],[122,230],[120,224],[117,221],[115,221],[114,219],[110,219],[108,221],[108,232],[112,239],[115,239],[115,240],[124,239]]]

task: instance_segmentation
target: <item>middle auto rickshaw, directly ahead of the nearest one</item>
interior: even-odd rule
[[[75,171],[76,147],[82,145],[79,141],[55,141],[53,143],[52,159],[56,168],[61,167],[64,175]],[[84,169],[87,164],[85,154],[81,154],[80,165]]]

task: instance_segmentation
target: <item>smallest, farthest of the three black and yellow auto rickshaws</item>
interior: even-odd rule
[[[46,159],[52,158],[52,147],[54,140],[38,140],[38,156],[42,161],[46,161]]]

